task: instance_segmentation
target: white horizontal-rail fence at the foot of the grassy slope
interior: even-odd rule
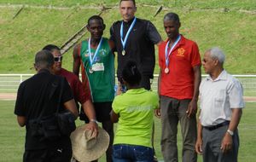
[[[0,74],[0,93],[16,93],[20,83],[33,74]],[[202,75],[202,78],[207,75]],[[256,96],[256,75],[234,75],[241,81],[244,95]],[[157,90],[158,74],[154,74],[152,89]]]

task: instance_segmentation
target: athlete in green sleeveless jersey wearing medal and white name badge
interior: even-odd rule
[[[85,39],[73,49],[73,72],[79,76],[81,67],[84,88],[90,88],[90,95],[96,111],[96,120],[102,123],[110,136],[107,162],[112,162],[113,123],[109,113],[114,97],[114,55],[113,43],[103,38],[105,24],[99,15],[88,20],[90,38]],[[85,123],[89,119],[84,117]]]

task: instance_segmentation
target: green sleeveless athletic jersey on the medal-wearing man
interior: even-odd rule
[[[83,82],[88,78],[93,102],[113,101],[114,97],[114,57],[108,43],[108,38],[102,38],[98,52],[88,48],[88,40],[84,40],[80,47]],[[95,61],[90,65],[95,56]]]

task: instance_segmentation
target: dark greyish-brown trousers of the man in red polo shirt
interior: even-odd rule
[[[177,124],[180,121],[183,136],[183,162],[196,162],[195,142],[197,136],[195,115],[187,116],[190,100],[177,100],[160,96],[161,151],[165,161],[177,162]]]

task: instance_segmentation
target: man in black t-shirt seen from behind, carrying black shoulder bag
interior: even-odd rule
[[[34,119],[43,119],[54,114],[60,95],[61,108],[59,111],[67,109],[74,116],[78,117],[79,115],[67,80],[51,73],[53,63],[53,55],[48,50],[39,51],[34,64],[38,73],[22,82],[18,90],[15,114],[20,126],[26,125],[26,143],[23,155],[23,161],[26,162],[69,162],[72,157],[69,136],[61,136],[55,141],[42,140],[40,136],[32,136],[29,124]],[[61,84],[61,79],[64,79],[64,84]]]

